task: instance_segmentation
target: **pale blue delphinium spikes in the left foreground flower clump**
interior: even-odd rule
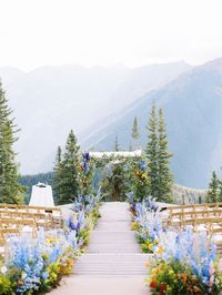
[[[17,294],[32,294],[30,292],[38,291],[41,279],[49,277],[46,267],[62,257],[68,248],[79,247],[74,231],[67,235],[64,231],[59,230],[53,233],[50,243],[46,242],[46,238],[44,231],[40,230],[37,238],[22,235],[9,240],[6,266],[16,267],[21,276]],[[48,257],[47,261],[43,260],[43,255]]]

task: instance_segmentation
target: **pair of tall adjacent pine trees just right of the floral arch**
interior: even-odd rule
[[[168,150],[167,128],[163,112],[159,110],[159,119],[155,105],[152,105],[148,125],[149,139],[145,149],[148,160],[148,176],[150,179],[150,195],[158,201],[172,202],[172,174],[170,172],[170,159],[172,154]]]

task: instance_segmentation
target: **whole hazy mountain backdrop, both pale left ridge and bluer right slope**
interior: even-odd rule
[[[138,118],[141,146],[152,102],[161,106],[173,153],[175,181],[205,187],[222,165],[222,59],[191,67],[185,62],[135,69],[81,65],[42,67],[31,72],[0,68],[16,122],[22,174],[50,171],[57,146],[71,129],[82,149],[111,151],[131,144]]]

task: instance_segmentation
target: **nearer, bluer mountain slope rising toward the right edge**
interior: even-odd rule
[[[153,101],[164,111],[175,181],[205,187],[212,171],[220,173],[222,165],[222,59],[196,67],[142,95],[117,113],[110,123],[89,132],[83,145],[109,150],[118,135],[120,146],[128,149],[137,116],[140,144],[145,146],[145,126]]]

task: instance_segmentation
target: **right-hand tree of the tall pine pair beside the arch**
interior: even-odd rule
[[[172,174],[170,172],[170,159],[172,154],[168,150],[167,128],[162,109],[159,110],[159,149],[158,149],[158,177],[159,186],[157,192],[158,201],[172,202]]]

